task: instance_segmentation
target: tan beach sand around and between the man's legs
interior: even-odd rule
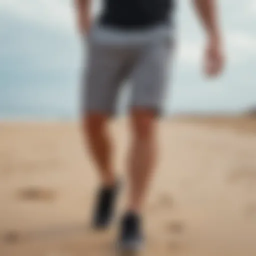
[[[256,255],[255,123],[160,121],[141,255]],[[125,176],[126,120],[111,129]],[[105,232],[89,227],[97,175],[79,131],[76,123],[0,123],[0,256],[116,255],[118,221]]]

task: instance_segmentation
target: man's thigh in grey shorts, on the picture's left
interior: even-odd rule
[[[110,44],[93,41],[89,42],[87,54],[82,84],[83,111],[111,114],[118,87],[126,75],[127,56]]]

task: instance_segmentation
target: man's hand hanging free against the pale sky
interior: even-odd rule
[[[204,72],[208,76],[216,76],[223,70],[224,57],[219,39],[210,37],[204,55]]]

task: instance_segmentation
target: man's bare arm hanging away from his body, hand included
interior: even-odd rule
[[[205,72],[208,75],[217,75],[223,68],[223,56],[216,0],[193,1],[207,34],[208,42],[205,53]]]

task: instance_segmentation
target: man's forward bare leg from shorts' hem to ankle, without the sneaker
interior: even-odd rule
[[[128,211],[140,212],[156,156],[155,112],[143,108],[133,109],[130,122],[132,141],[128,163]]]

